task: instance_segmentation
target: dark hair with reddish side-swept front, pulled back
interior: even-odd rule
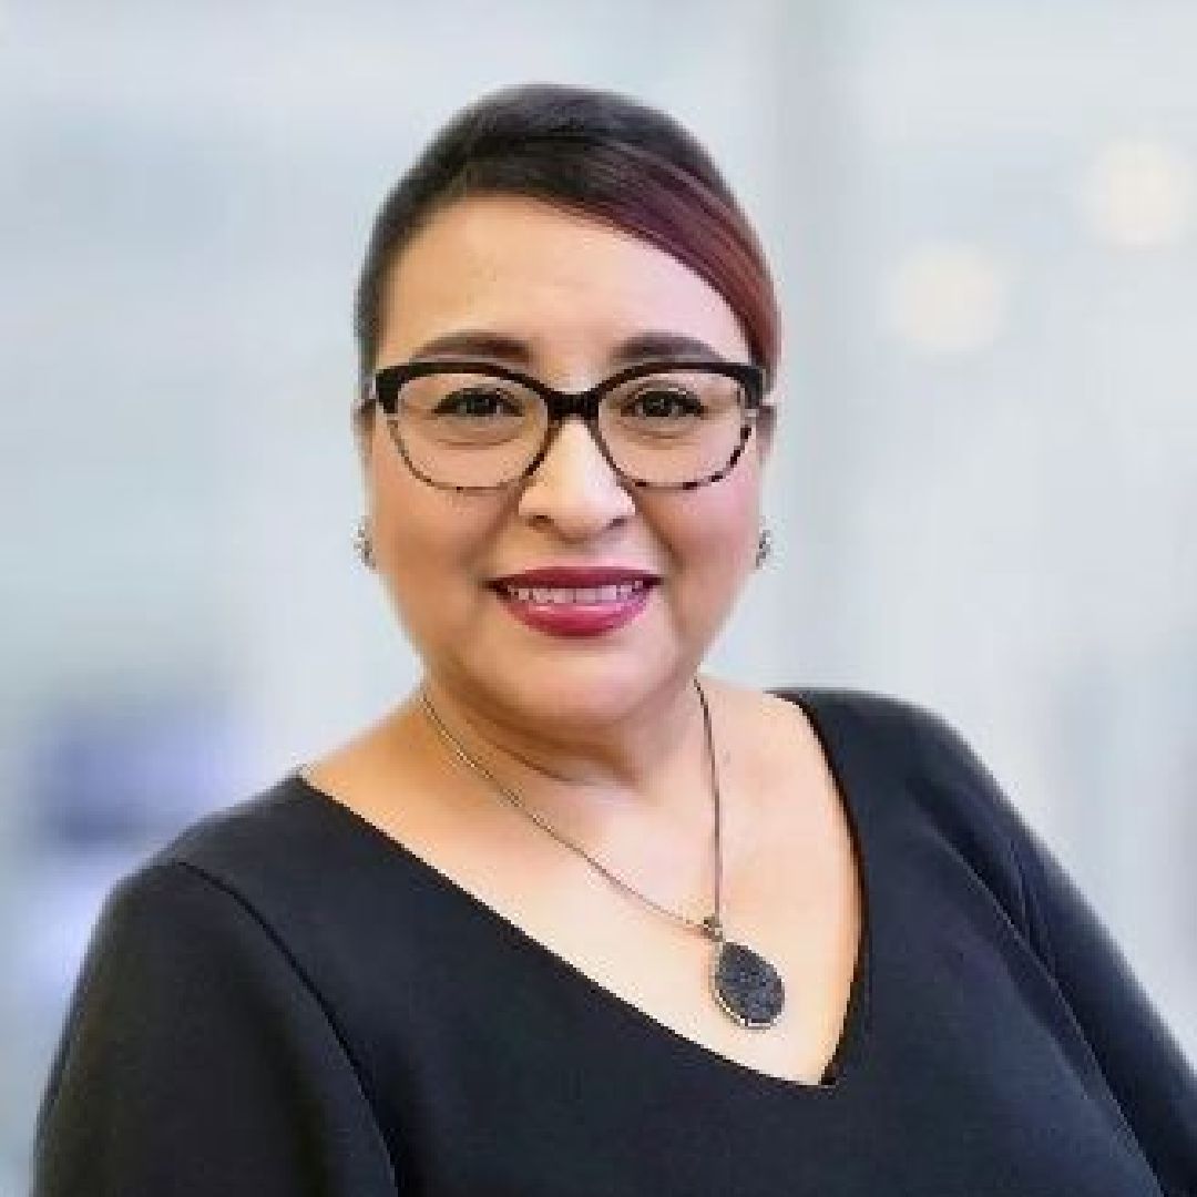
[[[440,208],[473,195],[542,200],[672,254],[723,296],[772,383],[772,278],[752,225],[706,151],[673,117],[627,96],[523,84],[457,113],[383,201],[354,305],[363,387],[375,369],[390,266]]]

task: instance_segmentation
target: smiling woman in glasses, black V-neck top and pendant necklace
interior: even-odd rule
[[[687,133],[479,101],[357,332],[423,682],[114,889],[37,1193],[1197,1190],[1197,1081],[960,739],[699,676],[767,555],[778,338]]]

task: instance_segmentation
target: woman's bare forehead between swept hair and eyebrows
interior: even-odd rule
[[[391,267],[385,312],[382,361],[467,328],[515,336],[543,364],[646,330],[749,354],[727,300],[675,257],[522,196],[470,198],[433,217]]]

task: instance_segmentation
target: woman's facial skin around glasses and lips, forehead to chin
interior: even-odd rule
[[[644,333],[697,338],[751,360],[725,300],[645,241],[518,196],[439,212],[393,268],[378,367],[464,330],[527,346],[505,364],[582,390],[613,373]],[[688,683],[752,569],[764,425],[724,479],[638,491],[612,472],[587,426],[559,429],[535,475],[456,493],[418,479],[376,418],[365,445],[375,561],[427,674],[492,713],[594,724]],[[639,614],[600,634],[560,636],[517,619],[493,579],[541,566],[616,565],[655,575]]]

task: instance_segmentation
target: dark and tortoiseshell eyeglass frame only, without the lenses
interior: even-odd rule
[[[723,375],[728,378],[734,378],[740,383],[742,395],[740,437],[727,463],[711,474],[704,474],[700,478],[689,479],[685,482],[652,482],[648,479],[637,478],[634,474],[627,473],[627,470],[622,469],[614,457],[612,457],[610,450],[603,440],[602,432],[598,430],[598,405],[602,402],[603,396],[633,378],[679,371],[693,373],[695,370],[705,371],[707,373]],[[438,482],[436,479],[429,478],[429,475],[412,461],[412,457],[407,451],[407,446],[403,444],[403,439],[399,433],[397,420],[395,419],[399,412],[399,393],[403,383],[409,378],[418,378],[432,373],[475,373],[486,375],[492,378],[503,378],[508,382],[515,382],[527,387],[529,390],[535,391],[541,396],[541,399],[545,400],[545,407],[548,411],[548,424],[545,429],[545,439],[533,455],[531,460],[519,473],[509,479],[504,479],[500,482],[492,482],[486,486],[455,486],[449,482]],[[375,371],[369,384],[364,388],[359,412],[364,412],[371,403],[377,403],[383,414],[387,417],[387,426],[390,430],[391,440],[394,442],[399,455],[403,458],[407,468],[418,479],[420,479],[421,482],[426,482],[429,486],[435,486],[439,491],[457,491],[462,493],[502,491],[505,487],[514,486],[515,484],[530,478],[548,454],[554,432],[561,425],[561,421],[571,415],[577,415],[585,423],[595,439],[595,443],[598,445],[600,451],[606,458],[607,464],[610,466],[612,470],[625,482],[649,491],[694,491],[700,486],[710,486],[711,482],[717,482],[721,478],[727,478],[727,475],[731,473],[736,462],[743,455],[745,445],[748,444],[748,438],[752,436],[753,429],[757,426],[758,417],[762,411],[770,409],[770,407],[764,402],[764,396],[765,371],[761,366],[749,361],[722,361],[710,359],[686,360],[680,358],[668,358],[660,361],[640,361],[633,366],[628,366],[625,370],[620,370],[616,373],[610,375],[610,377],[604,378],[602,382],[589,388],[589,390],[571,394],[570,391],[557,390],[547,383],[541,382],[539,378],[533,378],[530,375],[525,375],[518,370],[512,370],[509,366],[498,365],[491,361],[480,361],[474,358],[430,358],[423,361],[402,361],[399,365],[385,366],[382,370]]]

